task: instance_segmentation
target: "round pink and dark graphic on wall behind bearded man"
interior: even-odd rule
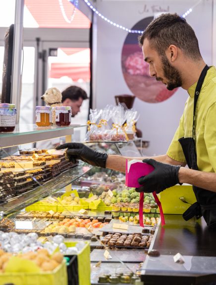
[[[144,30],[153,20],[147,17],[136,23],[133,30]],[[128,33],[121,53],[121,67],[127,86],[137,98],[158,103],[168,99],[175,91],[169,91],[162,82],[149,75],[149,65],[143,59],[142,49],[138,45],[138,34]]]

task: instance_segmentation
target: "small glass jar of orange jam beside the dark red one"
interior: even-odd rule
[[[48,127],[52,123],[52,107],[36,106],[36,125],[38,127]]]

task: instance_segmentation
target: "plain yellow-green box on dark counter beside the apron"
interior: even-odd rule
[[[189,207],[190,204],[196,202],[191,185],[175,185],[158,195],[164,214],[183,214]],[[185,201],[190,204],[182,202],[179,197],[183,197]]]

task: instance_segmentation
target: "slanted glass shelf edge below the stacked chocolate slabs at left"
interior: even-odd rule
[[[15,212],[18,212],[66,187],[83,174],[87,173],[91,168],[92,166],[88,165],[87,167],[85,163],[82,163],[72,169],[69,169],[46,182],[42,186],[17,196],[5,204],[0,204],[0,211],[3,211],[5,216],[14,214]]]

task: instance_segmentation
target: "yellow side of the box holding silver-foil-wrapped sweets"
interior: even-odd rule
[[[87,241],[85,243],[86,246],[77,254],[79,285],[91,285],[90,245]],[[65,244],[67,247],[70,247],[75,246],[77,242],[66,241]]]

